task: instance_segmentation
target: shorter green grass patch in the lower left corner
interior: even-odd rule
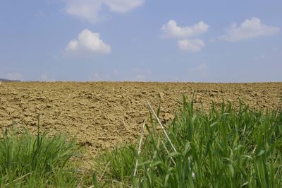
[[[70,158],[75,141],[56,134],[31,136],[5,131],[0,140],[0,187],[75,187],[78,177]]]

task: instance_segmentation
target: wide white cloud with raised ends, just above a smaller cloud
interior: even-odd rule
[[[169,20],[168,23],[162,26],[166,38],[188,38],[207,32],[209,25],[200,21],[192,26],[179,27],[175,20]]]

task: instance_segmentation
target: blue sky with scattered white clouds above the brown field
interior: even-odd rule
[[[282,81],[281,0],[1,0],[0,78]]]

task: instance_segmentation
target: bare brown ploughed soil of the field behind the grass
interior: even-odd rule
[[[161,106],[161,121],[173,118],[195,90],[195,102],[207,109],[211,101],[243,102],[261,109],[282,106],[282,83],[2,83],[0,128],[18,122],[33,133],[37,115],[41,130],[75,136],[96,154],[121,142],[134,141],[142,122],[148,122],[146,100],[154,109]]]

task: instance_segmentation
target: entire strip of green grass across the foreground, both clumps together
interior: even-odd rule
[[[166,125],[160,110],[151,112],[138,146],[100,153],[86,175],[73,160],[80,148],[67,136],[6,131],[0,187],[282,187],[281,109],[222,102],[207,112],[183,98]]]

